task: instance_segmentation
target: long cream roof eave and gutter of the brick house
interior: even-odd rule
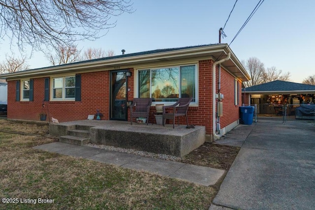
[[[95,61],[87,61],[87,62],[77,62],[70,63],[66,65],[58,65],[58,66],[50,66],[44,68],[31,69],[26,71],[8,73],[0,75],[0,78],[3,79],[15,79],[20,77],[34,77],[34,76],[45,76],[56,73],[63,73],[67,71],[79,71],[86,69],[99,69],[104,67],[115,67],[122,65],[131,65],[131,64],[140,64],[146,62],[155,62],[155,61],[165,61],[165,60],[176,60],[176,59],[186,59],[186,58],[194,58],[194,57],[219,57],[222,53],[227,54],[227,52],[231,52],[231,59],[239,72],[237,74],[241,78],[242,81],[248,81],[250,78],[243,65],[236,58],[234,53],[228,47],[227,44],[216,44],[216,45],[208,45],[208,46],[200,46],[195,48],[167,51],[167,52],[159,52],[153,54],[146,55],[138,55],[138,56],[130,56],[125,58],[116,58],[109,60],[95,60]]]

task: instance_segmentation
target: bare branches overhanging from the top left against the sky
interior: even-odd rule
[[[1,0],[0,10],[0,37],[22,52],[25,44],[44,50],[95,40],[116,26],[113,17],[134,11],[130,0]]]

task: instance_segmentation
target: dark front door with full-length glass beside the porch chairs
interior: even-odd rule
[[[110,73],[110,120],[127,120],[126,70]]]

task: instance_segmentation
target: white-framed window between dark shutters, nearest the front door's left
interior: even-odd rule
[[[56,77],[52,79],[53,99],[75,98],[75,76]]]

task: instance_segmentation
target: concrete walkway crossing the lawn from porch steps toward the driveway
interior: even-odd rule
[[[85,158],[106,164],[113,164],[126,169],[133,169],[137,171],[144,170],[160,176],[186,180],[204,186],[216,184],[225,172],[221,169],[195,166],[180,162],[143,157],[135,154],[102,150],[86,146],[71,145],[61,142],[53,142],[33,148],[78,158]]]

